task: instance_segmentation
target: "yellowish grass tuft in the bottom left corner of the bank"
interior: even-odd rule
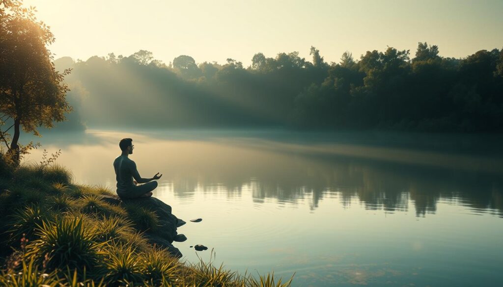
[[[19,272],[0,274],[0,286],[3,287],[56,287],[62,286],[62,282],[54,273],[42,273],[34,260],[27,264],[22,262]]]

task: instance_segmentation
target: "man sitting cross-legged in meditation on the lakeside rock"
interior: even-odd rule
[[[121,198],[135,199],[151,197],[152,190],[157,187],[157,180],[161,175],[157,172],[152,178],[142,178],[136,169],[136,163],[129,159],[133,154],[132,139],[122,139],[119,142],[122,154],[114,160],[114,169],[117,179],[117,195]],[[133,178],[135,181],[133,181]]]

